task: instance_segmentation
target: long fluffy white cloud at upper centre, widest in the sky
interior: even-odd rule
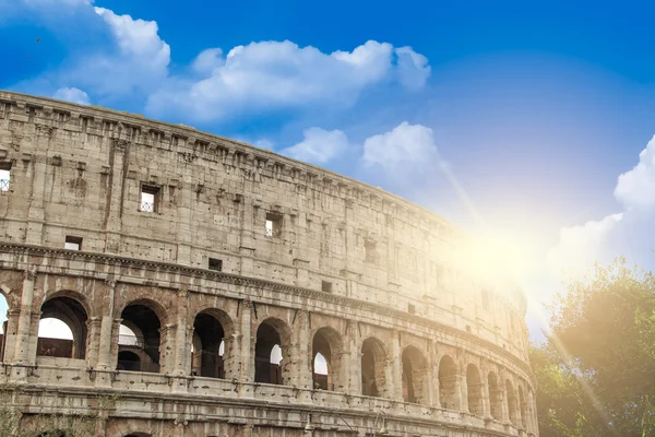
[[[148,113],[183,110],[198,120],[215,120],[246,109],[350,105],[367,86],[398,81],[408,88],[425,84],[427,59],[410,48],[369,40],[353,51],[323,54],[291,42],[238,46],[226,56],[201,52],[192,70],[203,78],[170,78],[148,99]],[[416,70],[416,71],[415,71]]]

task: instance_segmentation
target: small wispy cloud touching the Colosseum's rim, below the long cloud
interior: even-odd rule
[[[312,164],[325,164],[348,147],[348,138],[341,130],[310,128],[303,135],[305,140],[282,150],[281,153]]]

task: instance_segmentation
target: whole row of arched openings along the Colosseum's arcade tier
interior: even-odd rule
[[[41,322],[57,319],[69,329],[70,347],[38,347],[37,355],[84,359],[87,346],[87,312],[74,294],[59,295],[41,305]],[[162,328],[165,312],[157,303],[139,299],[127,305],[120,315],[118,332],[118,370],[160,371]],[[230,340],[235,326],[230,317],[219,309],[199,312],[190,329],[189,373],[206,378],[226,378],[225,358],[231,356]],[[47,334],[46,334],[47,335]],[[289,326],[275,317],[263,319],[257,327],[253,343],[253,377],[255,382],[289,383],[291,332]],[[39,332],[39,341],[41,340]],[[45,335],[44,335],[45,339]],[[44,342],[45,344],[45,342]],[[343,361],[346,345],[342,334],[331,327],[321,327],[312,332],[308,363],[311,367],[311,383],[314,389],[344,391],[350,375],[344,371]],[[503,418],[503,405],[508,418],[525,426],[526,401],[523,388],[514,391],[509,379],[502,383],[495,373],[483,377],[475,364],[468,364],[461,375],[455,361],[444,355],[438,364],[437,375],[424,352],[407,345],[401,351],[400,363],[391,361],[384,343],[376,336],[361,341],[359,349],[359,389],[361,394],[394,398],[393,369],[401,366],[402,398],[406,402],[438,404],[445,410],[462,410],[467,405],[472,414],[485,414],[485,399],[489,401],[489,413],[493,418]],[[231,376],[234,377],[234,375]],[[436,377],[436,378],[434,378]],[[461,383],[461,379],[465,385]],[[437,379],[434,381],[434,379]],[[352,383],[352,382],[350,382]],[[437,383],[438,390],[432,385]],[[465,392],[462,388],[465,387]],[[488,390],[486,394],[485,390]],[[437,392],[438,399],[432,399]],[[507,395],[503,397],[503,393]]]

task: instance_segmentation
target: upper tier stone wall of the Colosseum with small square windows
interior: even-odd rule
[[[381,189],[192,128],[8,92],[0,163],[5,240],[78,237],[83,250],[205,269],[219,259],[228,273],[416,311],[526,356],[521,292],[464,273],[452,258],[466,236]],[[144,186],[155,212],[141,211]]]

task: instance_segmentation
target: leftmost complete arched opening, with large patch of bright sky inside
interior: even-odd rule
[[[41,305],[37,356],[84,359],[86,310],[71,297],[53,297]]]

